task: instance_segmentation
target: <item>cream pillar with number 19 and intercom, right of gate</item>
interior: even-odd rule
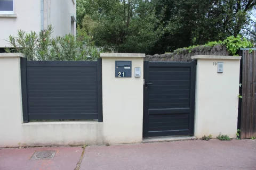
[[[236,138],[240,56],[193,56],[197,60],[195,136]],[[218,73],[218,63],[223,73]],[[221,69],[221,68],[220,68]]]

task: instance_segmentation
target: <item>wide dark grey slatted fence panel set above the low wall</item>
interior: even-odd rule
[[[102,122],[101,59],[26,61],[21,58],[23,122],[87,120]]]

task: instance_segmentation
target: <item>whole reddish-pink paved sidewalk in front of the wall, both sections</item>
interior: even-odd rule
[[[57,153],[52,160],[29,160],[36,150],[56,150]],[[0,149],[0,170],[73,170],[79,165],[82,153],[82,147]],[[80,170],[92,169],[256,170],[256,140],[89,146]]]

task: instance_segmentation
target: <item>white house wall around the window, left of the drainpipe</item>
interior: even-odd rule
[[[18,29],[39,32],[41,30],[40,10],[40,0],[14,0],[14,14],[17,18],[7,18],[8,15],[3,17],[0,12],[0,48],[10,47],[5,40],[9,35],[17,35]]]

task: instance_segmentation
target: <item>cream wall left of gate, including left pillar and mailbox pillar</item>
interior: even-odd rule
[[[145,54],[107,55],[110,57],[102,57],[103,123],[23,123],[22,54],[0,54],[0,148],[141,142]],[[132,61],[132,78],[115,78],[116,60]],[[134,67],[141,67],[140,78],[134,77]]]

